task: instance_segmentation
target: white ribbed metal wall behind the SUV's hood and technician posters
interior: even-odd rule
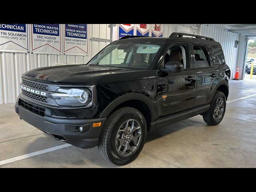
[[[164,24],[164,37],[177,32],[179,24]],[[180,24],[197,27],[197,24]],[[64,24],[61,26],[64,29]],[[31,32],[29,25],[28,32]],[[62,38],[63,36],[62,30]],[[199,34],[199,30],[190,28],[190,33]],[[113,27],[112,38],[117,40],[118,26]],[[31,36],[31,34],[29,34]],[[54,54],[31,54],[0,52],[0,104],[14,103],[19,92],[20,76],[34,68],[52,66],[54,63],[82,64],[87,63],[92,56],[109,44],[104,41],[92,41],[92,38],[111,39],[110,24],[88,24],[88,56],[69,56]],[[31,45],[30,45],[31,47]],[[63,50],[63,47],[62,47]]]

